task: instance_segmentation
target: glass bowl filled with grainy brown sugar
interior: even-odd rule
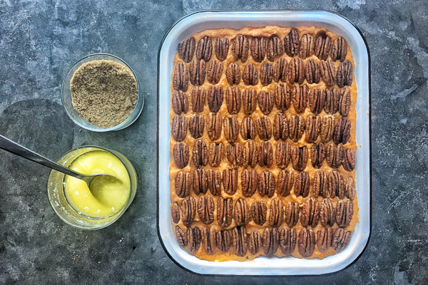
[[[108,53],[94,53],[76,62],[63,79],[61,99],[74,123],[95,132],[128,127],[144,105],[131,66]]]

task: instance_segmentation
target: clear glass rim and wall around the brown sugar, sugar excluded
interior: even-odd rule
[[[70,90],[70,81],[73,77],[74,72],[83,64],[87,63],[89,61],[114,61],[116,63],[120,63],[123,66],[128,67],[132,73],[133,76],[136,78],[137,86],[138,86],[138,99],[136,103],[136,107],[132,111],[131,115],[129,115],[126,120],[124,120],[119,125],[114,126],[113,128],[100,128],[96,125],[92,125],[85,119],[83,119],[80,115],[78,115],[77,111],[73,108],[73,103],[71,102],[71,90]],[[113,56],[108,53],[94,53],[90,54],[88,56],[85,56],[80,61],[76,62],[73,67],[68,71],[66,77],[63,79],[63,83],[61,84],[61,99],[64,108],[66,108],[67,115],[73,120],[74,123],[81,126],[82,128],[86,128],[86,130],[93,130],[94,132],[107,132],[109,130],[121,130],[123,128],[128,127],[128,125],[131,125],[134,123],[138,116],[141,114],[141,111],[143,110],[144,105],[144,96],[141,92],[140,83],[138,83],[138,77],[136,76],[136,73],[132,70],[131,66],[128,66],[128,63],[121,60],[121,58],[118,58],[117,56]]]

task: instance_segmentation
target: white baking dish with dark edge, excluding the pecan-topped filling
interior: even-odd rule
[[[357,81],[356,182],[360,222],[350,244],[325,259],[259,257],[253,261],[200,260],[178,246],[170,222],[170,82],[178,43],[208,28],[245,26],[316,26],[344,36],[355,61]],[[165,252],[183,268],[198,274],[301,275],[339,271],[362,254],[370,236],[370,59],[360,31],[344,17],[329,11],[201,11],[185,16],[166,33],[158,58],[158,235]]]

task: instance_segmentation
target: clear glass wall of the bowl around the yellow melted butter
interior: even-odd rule
[[[129,205],[131,204],[133,198],[136,195],[136,170],[126,157],[124,157],[121,153],[116,152],[115,150],[108,150],[104,147],[97,147],[91,145],[81,146],[67,152],[65,155],[63,155],[63,157],[61,157],[60,160],[58,160],[58,163],[68,167],[69,165],[71,165],[71,162],[76,160],[77,157],[95,150],[110,152],[111,154],[118,157],[118,160],[121,160],[123,165],[125,165],[126,170],[128,171],[131,190],[129,192],[128,201],[126,202],[125,206],[123,206],[123,208],[116,214],[100,218],[86,217],[83,214],[79,214],[68,203],[66,199],[66,194],[64,192],[65,175],[56,170],[52,170],[48,180],[48,197],[52,209],[54,209],[54,212],[56,212],[56,214],[58,214],[58,217],[60,217],[64,222],[70,224],[73,227],[77,227],[78,229],[102,229],[103,227],[107,227],[108,225],[113,224],[113,222],[116,222],[126,211],[126,209],[128,209]]]

